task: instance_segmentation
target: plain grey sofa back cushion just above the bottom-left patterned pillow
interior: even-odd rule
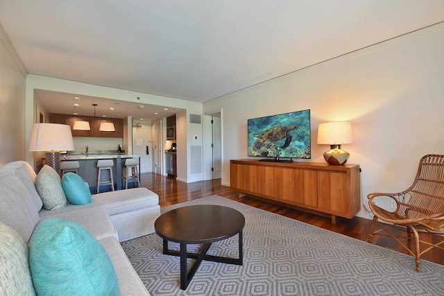
[[[0,188],[0,221],[28,242],[40,220],[31,196],[19,178],[6,170],[0,170]]]

